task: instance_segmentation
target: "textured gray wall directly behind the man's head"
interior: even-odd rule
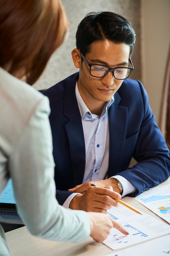
[[[70,22],[70,34],[65,43],[50,59],[44,74],[35,83],[35,88],[43,90],[51,87],[70,74],[77,72],[72,62],[71,52],[76,47],[75,34],[78,24],[90,11],[113,11],[131,21],[137,34],[132,56],[135,70],[132,79],[141,80],[141,38],[140,38],[140,0],[62,0],[65,12]]]

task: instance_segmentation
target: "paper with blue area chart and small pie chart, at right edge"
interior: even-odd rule
[[[170,223],[170,185],[155,186],[135,197],[135,200]]]

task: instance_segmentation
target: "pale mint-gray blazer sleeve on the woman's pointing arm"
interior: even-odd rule
[[[83,211],[65,209],[55,198],[49,112],[48,99],[42,97],[10,155],[17,210],[31,234],[78,242],[90,234],[89,218]]]

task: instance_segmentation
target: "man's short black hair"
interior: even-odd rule
[[[90,12],[78,25],[76,47],[85,55],[90,51],[92,43],[102,40],[129,45],[131,56],[135,31],[131,22],[119,14],[110,11]]]

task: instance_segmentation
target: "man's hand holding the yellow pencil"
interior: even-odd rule
[[[107,213],[107,209],[111,209],[112,206],[118,207],[119,203],[114,199],[120,199],[121,195],[113,191],[111,186],[104,188],[91,186],[89,183],[88,189],[84,190],[87,184],[83,185],[74,190],[74,192],[82,194],[76,195],[72,199],[69,206],[70,209]]]

